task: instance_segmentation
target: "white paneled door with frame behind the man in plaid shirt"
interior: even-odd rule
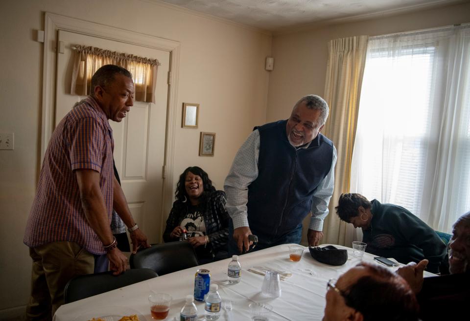
[[[57,54],[55,125],[75,102],[85,98],[70,94],[74,45],[134,54],[158,59],[161,63],[157,74],[156,103],[135,102],[122,122],[110,121],[115,143],[114,159],[122,190],[137,224],[151,243],[157,243],[163,234],[159,216],[162,215],[169,52],[63,30],[59,30],[58,40],[63,42],[64,52]]]

